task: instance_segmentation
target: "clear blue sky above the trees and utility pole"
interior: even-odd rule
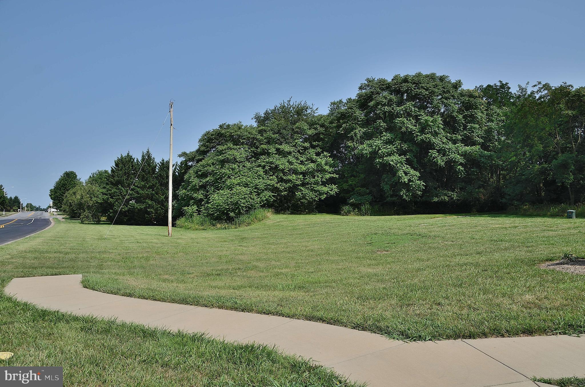
[[[585,85],[584,14],[582,1],[1,0],[0,184],[47,205],[63,171],[85,179],[151,146],[171,98],[177,154],[289,97],[326,112],[366,77]],[[152,151],[168,158],[168,127]]]

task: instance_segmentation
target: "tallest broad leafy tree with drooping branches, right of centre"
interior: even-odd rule
[[[490,184],[488,112],[479,91],[446,75],[367,79],[331,112],[346,136],[343,195],[356,204],[468,201]]]

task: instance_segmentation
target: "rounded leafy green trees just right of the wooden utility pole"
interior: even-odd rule
[[[307,212],[336,192],[333,160],[311,143],[321,132],[312,106],[284,101],[254,120],[224,123],[180,155],[191,167],[177,201],[187,215],[229,221],[261,206]]]

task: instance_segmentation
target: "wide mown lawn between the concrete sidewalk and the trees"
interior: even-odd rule
[[[408,340],[585,332],[583,219],[274,215],[233,230],[57,222],[0,247],[2,275],[290,316]]]

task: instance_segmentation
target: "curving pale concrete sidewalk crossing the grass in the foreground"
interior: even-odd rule
[[[15,278],[5,292],[47,309],[244,343],[276,344],[370,386],[535,386],[532,376],[585,377],[585,337],[539,336],[404,343],[286,317],[135,299],[85,289],[81,275]],[[545,386],[542,383],[538,385]]]

